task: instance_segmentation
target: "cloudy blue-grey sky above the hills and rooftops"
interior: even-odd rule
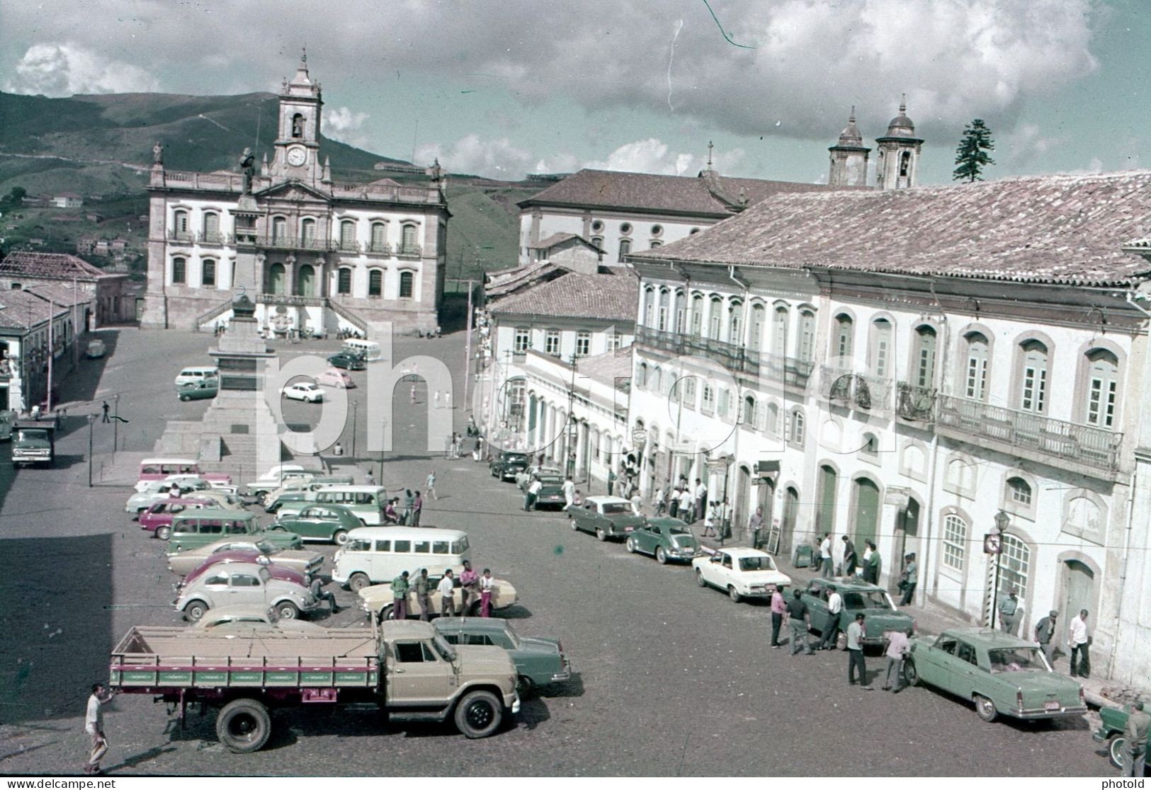
[[[986,178],[1095,172],[1151,167],[1144,6],[10,0],[0,90],[276,92],[306,47],[327,136],[455,172],[695,175],[711,141],[722,174],[823,182],[852,106],[874,148],[902,94],[921,183],[951,181],[976,117]]]

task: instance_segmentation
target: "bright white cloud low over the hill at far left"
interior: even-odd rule
[[[36,44],[5,84],[12,93],[68,97],[76,93],[134,93],[159,91],[159,80],[146,70],[105,60],[74,43]]]

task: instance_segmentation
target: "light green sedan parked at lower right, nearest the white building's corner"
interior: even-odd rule
[[[904,678],[975,703],[983,721],[998,715],[1054,719],[1087,713],[1083,687],[1055,673],[1039,646],[983,628],[951,628],[912,639]]]

